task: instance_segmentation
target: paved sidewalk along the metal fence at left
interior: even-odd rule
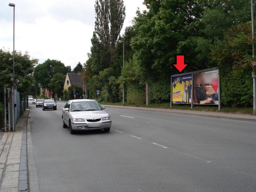
[[[28,191],[27,122],[26,109],[15,132],[4,132],[0,141],[0,192]],[[6,141],[6,143],[5,143]],[[5,143],[5,145],[4,145]]]

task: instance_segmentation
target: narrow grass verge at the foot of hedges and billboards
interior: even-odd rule
[[[119,103],[111,103],[102,101],[100,102],[101,105],[119,105],[122,106],[123,102]],[[130,106],[130,107],[146,107],[146,105],[132,105],[128,103],[124,103],[124,106]],[[214,112],[224,112],[224,113],[237,113],[237,114],[252,114],[252,107],[238,107],[238,108],[232,108],[230,106],[222,106],[220,111],[218,110],[218,106],[214,105],[194,105],[193,109],[190,108],[190,105],[172,105],[172,108],[170,108],[170,103],[151,103],[147,106],[147,108],[164,108],[164,109],[182,109],[182,110],[196,110],[196,111],[214,111]]]

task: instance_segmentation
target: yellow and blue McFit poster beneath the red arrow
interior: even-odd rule
[[[191,103],[192,74],[172,77],[172,103]]]

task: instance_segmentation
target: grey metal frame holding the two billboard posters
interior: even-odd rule
[[[170,102],[170,107],[172,107],[172,77],[177,77],[177,76],[184,76],[184,75],[192,75],[192,84],[194,85],[194,74],[195,73],[202,73],[202,72],[206,72],[206,71],[212,71],[212,70],[218,70],[218,74],[220,74],[220,71],[217,67],[213,67],[213,68],[208,68],[208,69],[202,69],[202,70],[198,70],[198,71],[191,71],[191,72],[187,72],[187,73],[180,73],[180,74],[175,74],[171,76],[171,102]],[[192,92],[194,90],[194,86],[192,86]],[[219,99],[219,104],[218,104],[218,109],[220,110],[221,108],[221,100],[220,100],[220,75],[218,78],[218,99]],[[193,108],[193,94],[191,94],[191,109]],[[210,104],[209,104],[210,105]]]

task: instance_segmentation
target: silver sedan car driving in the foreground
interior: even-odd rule
[[[62,126],[69,127],[70,133],[76,131],[103,129],[109,132],[111,118],[96,100],[69,100],[62,109]]]

